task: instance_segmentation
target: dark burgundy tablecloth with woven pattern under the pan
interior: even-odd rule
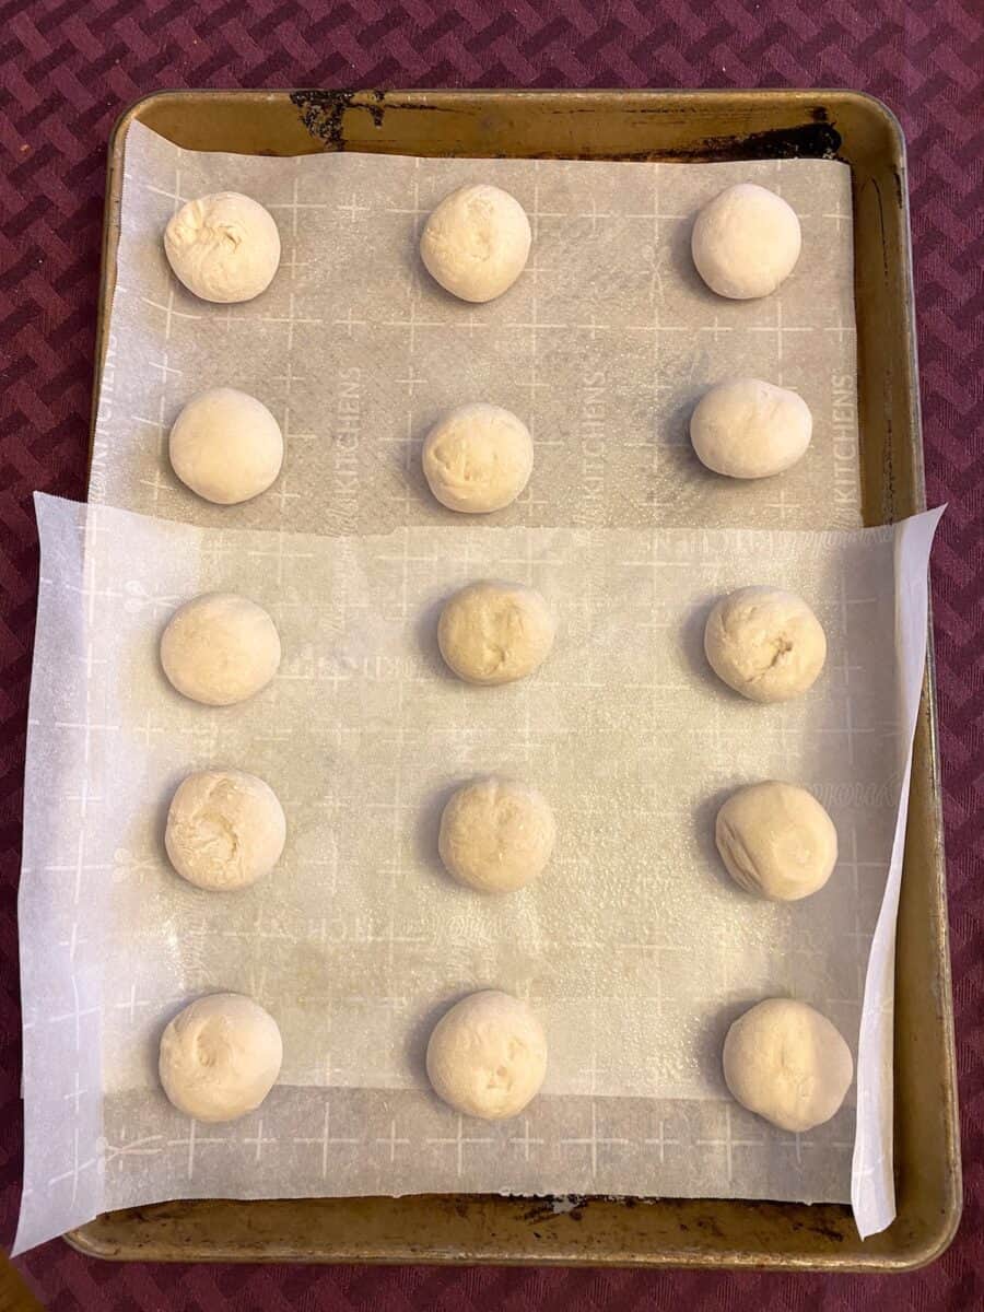
[[[83,16],[84,14],[84,16]],[[7,0],[0,4],[0,1223],[20,1177],[16,887],[37,586],[34,488],[84,493],[105,148],[172,87],[850,87],[909,143],[966,1207],[899,1278],[564,1270],[125,1266],[60,1241],[21,1261],[52,1308],[984,1304],[984,329],[979,0]]]

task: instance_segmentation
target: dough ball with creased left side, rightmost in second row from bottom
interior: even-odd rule
[[[718,851],[745,892],[798,901],[823,888],[837,865],[837,830],[812,792],[750,783],[718,812]]]

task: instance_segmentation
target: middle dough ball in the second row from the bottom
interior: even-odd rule
[[[543,794],[491,774],[450,798],[437,845],[449,874],[461,883],[505,893],[542,874],[555,838],[554,812]]]

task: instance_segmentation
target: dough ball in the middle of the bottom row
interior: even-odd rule
[[[438,1098],[467,1117],[517,1115],[537,1097],[546,1073],[543,1029],[510,993],[471,993],[430,1034],[428,1078]]]

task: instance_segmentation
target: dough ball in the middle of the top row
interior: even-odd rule
[[[479,182],[446,195],[420,239],[420,257],[462,300],[495,300],[526,268],[530,220],[508,192]]]

